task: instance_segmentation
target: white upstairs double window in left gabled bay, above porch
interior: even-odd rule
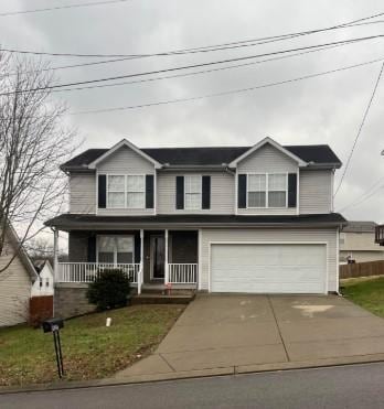
[[[108,175],[107,207],[109,208],[145,208],[145,175]]]

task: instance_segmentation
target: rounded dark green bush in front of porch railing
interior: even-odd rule
[[[119,269],[100,271],[88,287],[87,299],[98,311],[127,305],[130,286],[128,277]]]

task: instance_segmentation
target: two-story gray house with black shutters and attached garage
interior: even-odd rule
[[[87,282],[119,266],[142,287],[210,292],[339,290],[339,230],[329,146],[139,149],[121,140],[62,165],[70,213],[56,280]]]

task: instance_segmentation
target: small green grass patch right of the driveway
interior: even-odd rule
[[[345,281],[341,292],[354,303],[384,317],[384,277]]]

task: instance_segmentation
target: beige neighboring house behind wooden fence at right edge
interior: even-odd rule
[[[384,248],[375,244],[374,222],[348,222],[340,233],[340,263],[384,260]]]

